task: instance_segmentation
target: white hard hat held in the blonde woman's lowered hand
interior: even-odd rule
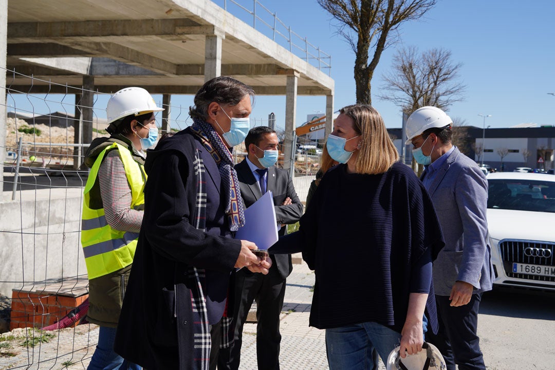
[[[445,370],[447,368],[440,350],[433,344],[424,342],[422,351],[407,354],[405,358],[399,356],[399,348],[393,349],[387,356],[387,370]]]

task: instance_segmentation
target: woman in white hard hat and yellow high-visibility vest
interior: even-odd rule
[[[140,369],[114,352],[115,331],[143,221],[145,150],[156,143],[157,107],[147,90],[130,87],[108,100],[110,138],[90,144],[81,244],[89,277],[87,320],[100,326],[88,369]]]

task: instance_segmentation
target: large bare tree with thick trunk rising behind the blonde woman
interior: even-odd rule
[[[422,17],[437,0],[318,0],[339,25],[337,33],[355,52],[356,102],[372,104],[371,81],[384,49],[395,43],[405,21]],[[372,57],[370,62],[370,53]]]

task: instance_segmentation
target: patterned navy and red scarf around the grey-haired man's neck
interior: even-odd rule
[[[233,157],[228,147],[221,140],[220,135],[214,128],[205,121],[194,118],[191,130],[198,136],[204,148],[209,151],[212,158],[218,165],[221,179],[226,191],[225,213],[228,215],[229,230],[237,231],[239,227],[245,225],[245,205],[241,198],[239,180],[233,168]]]

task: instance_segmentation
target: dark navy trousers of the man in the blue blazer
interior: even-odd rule
[[[432,343],[440,350],[447,370],[485,370],[480,338],[476,334],[478,327],[478,308],[482,293],[472,295],[467,305],[451,307],[448,296],[437,296],[437,318],[440,325],[437,334],[426,332],[426,342]]]

